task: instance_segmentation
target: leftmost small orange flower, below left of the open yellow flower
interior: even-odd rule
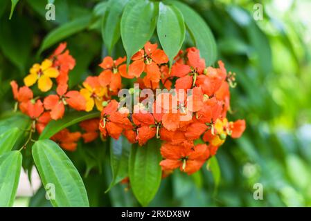
[[[21,112],[27,113],[27,103],[30,99],[33,99],[33,91],[27,86],[18,88],[16,81],[11,81],[10,85],[12,87],[14,99],[19,103],[19,109]]]

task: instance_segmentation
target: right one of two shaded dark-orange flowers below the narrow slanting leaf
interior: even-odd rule
[[[82,138],[85,141],[85,143],[92,142],[96,140],[98,137],[98,124],[100,122],[100,119],[94,118],[94,119],[87,119],[80,123],[80,127],[85,130],[85,133],[82,133]]]

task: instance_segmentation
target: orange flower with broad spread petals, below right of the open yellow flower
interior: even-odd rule
[[[71,90],[66,94],[48,95],[44,99],[44,108],[51,110],[51,118],[55,120],[64,116],[67,104],[77,111],[85,111],[87,102],[78,90]]]

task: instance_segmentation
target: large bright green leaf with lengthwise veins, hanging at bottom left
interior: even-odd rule
[[[89,206],[82,178],[60,146],[51,140],[39,140],[32,152],[46,191],[55,196],[50,199],[53,206]]]

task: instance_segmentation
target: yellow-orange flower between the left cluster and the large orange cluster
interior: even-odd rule
[[[101,86],[91,87],[87,82],[83,83],[85,88],[80,90],[80,94],[87,100],[87,108],[85,111],[93,110],[94,105],[98,111],[103,111],[103,97],[107,94],[107,88]]]

